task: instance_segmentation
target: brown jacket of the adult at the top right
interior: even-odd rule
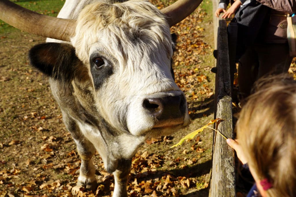
[[[271,8],[268,24],[264,28],[266,43],[287,43],[287,14],[296,12],[295,0],[256,0]]]

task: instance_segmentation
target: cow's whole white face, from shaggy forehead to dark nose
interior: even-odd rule
[[[154,136],[188,125],[186,99],[170,70],[170,29],[152,4],[86,6],[72,44],[88,67],[97,110],[116,130]]]

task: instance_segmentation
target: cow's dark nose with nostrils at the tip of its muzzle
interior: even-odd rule
[[[184,123],[186,100],[183,95],[146,98],[143,107],[155,121],[154,127],[174,126]]]

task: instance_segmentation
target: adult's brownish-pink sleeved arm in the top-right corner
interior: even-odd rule
[[[296,0],[256,0],[259,3],[280,12],[292,14],[296,12]]]

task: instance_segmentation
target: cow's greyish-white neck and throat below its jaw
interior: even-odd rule
[[[130,163],[145,136],[133,136],[125,131],[117,131],[96,111],[93,92],[87,84],[72,82],[75,105],[79,117],[76,121],[83,135],[94,144],[104,160],[108,172],[120,168],[123,161]]]

